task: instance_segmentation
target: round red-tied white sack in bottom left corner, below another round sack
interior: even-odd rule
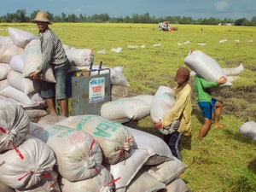
[[[0,162],[0,180],[13,189],[24,190],[49,177],[56,160],[55,154],[44,142],[26,137],[16,149],[2,153]]]

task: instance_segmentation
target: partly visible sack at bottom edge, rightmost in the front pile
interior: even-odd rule
[[[191,192],[182,178],[177,177],[172,183],[168,184],[165,189],[158,192]]]

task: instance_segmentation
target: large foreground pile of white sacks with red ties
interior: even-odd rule
[[[147,132],[97,115],[46,115],[32,123],[6,97],[0,125],[2,192],[189,191],[179,177],[188,166]]]

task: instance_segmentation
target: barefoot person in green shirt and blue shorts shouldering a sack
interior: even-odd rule
[[[224,77],[216,81],[206,81],[195,74],[195,90],[197,92],[196,100],[203,115],[203,124],[199,131],[198,138],[201,140],[207,135],[212,125],[212,112],[214,113],[214,128],[221,128],[224,125],[219,123],[220,114],[223,108],[223,102],[212,98],[209,88],[217,87],[219,84],[225,84],[227,79]]]

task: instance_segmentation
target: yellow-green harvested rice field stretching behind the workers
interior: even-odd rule
[[[8,36],[7,26],[38,33],[32,23],[0,24],[0,36]],[[185,66],[183,60],[190,49],[205,52],[224,68],[242,63],[240,79],[214,95],[224,102],[221,123],[225,127],[212,128],[201,142],[197,140],[201,111],[193,90],[192,137],[183,137],[180,143],[183,161],[189,166],[182,177],[193,192],[256,191],[256,143],[238,131],[241,124],[256,120],[256,27],[173,26],[176,32],[159,31],[153,24],[57,23],[50,28],[63,44],[94,49],[95,65],[102,61],[107,67],[124,67],[131,96],[154,95],[160,85],[173,87],[177,68]],[[145,48],[140,47],[143,44]],[[127,45],[138,48],[128,49]],[[118,47],[123,48],[120,53],[110,51]],[[97,54],[102,49],[107,53]],[[193,77],[189,83],[194,88]],[[128,125],[162,137],[150,117]]]

